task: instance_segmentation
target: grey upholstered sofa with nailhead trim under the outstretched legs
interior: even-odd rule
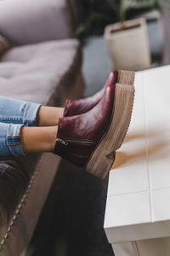
[[[13,45],[0,55],[0,95],[49,106],[82,96],[73,6],[64,0],[0,1],[0,34]],[[0,158],[0,255],[24,253],[59,160],[50,153]]]

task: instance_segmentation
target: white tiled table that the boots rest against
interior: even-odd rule
[[[110,172],[105,233],[116,256],[170,256],[170,66],[136,73],[135,90]]]

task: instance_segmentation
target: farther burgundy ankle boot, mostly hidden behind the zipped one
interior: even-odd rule
[[[72,116],[88,112],[90,109],[94,108],[96,104],[98,104],[104,94],[105,87],[116,83],[124,84],[122,79],[124,79],[127,84],[133,85],[134,81],[132,80],[130,72],[122,70],[119,70],[118,72],[112,71],[105,83],[104,88],[99,90],[99,92],[97,92],[94,96],[78,100],[66,100],[63,116]]]

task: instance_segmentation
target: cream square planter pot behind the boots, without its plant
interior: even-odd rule
[[[105,27],[105,42],[114,69],[139,70],[150,67],[150,45],[144,19]],[[132,27],[132,28],[130,28]]]

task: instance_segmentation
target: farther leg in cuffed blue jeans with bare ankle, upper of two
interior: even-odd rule
[[[34,102],[19,101],[0,96],[0,122],[24,124],[26,126],[58,125],[64,108],[41,106]]]

